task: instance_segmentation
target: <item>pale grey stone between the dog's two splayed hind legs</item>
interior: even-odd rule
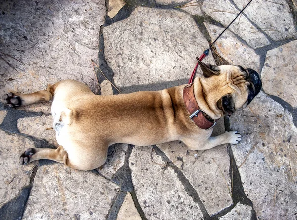
[[[52,128],[52,116],[43,114],[40,117],[27,117],[17,120],[17,128],[21,133],[29,134],[38,139],[45,139],[50,144],[58,147],[56,132]],[[25,151],[27,148],[24,148]]]

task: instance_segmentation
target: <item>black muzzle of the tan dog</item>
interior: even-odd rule
[[[260,79],[259,74],[253,69],[247,69],[249,76],[247,77],[247,81],[250,82],[249,93],[248,93],[248,103],[252,101],[252,99],[261,91],[262,81]]]

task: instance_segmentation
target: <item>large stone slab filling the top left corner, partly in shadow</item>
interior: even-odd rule
[[[0,59],[1,97],[7,91],[35,92],[64,79],[82,81],[97,93],[91,59],[97,61],[104,0],[3,0],[0,7],[1,57],[15,68]],[[37,104],[27,110],[43,108]]]

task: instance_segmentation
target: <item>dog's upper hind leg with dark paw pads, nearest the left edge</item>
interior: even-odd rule
[[[33,103],[39,103],[42,101],[49,101],[52,99],[52,91],[50,88],[41,90],[35,93],[21,94],[21,93],[6,93],[3,96],[7,105],[10,107],[27,106]]]

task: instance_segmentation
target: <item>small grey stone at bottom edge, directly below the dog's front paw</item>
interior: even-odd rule
[[[219,220],[250,220],[251,207],[237,203],[236,206],[226,215],[219,218]]]

